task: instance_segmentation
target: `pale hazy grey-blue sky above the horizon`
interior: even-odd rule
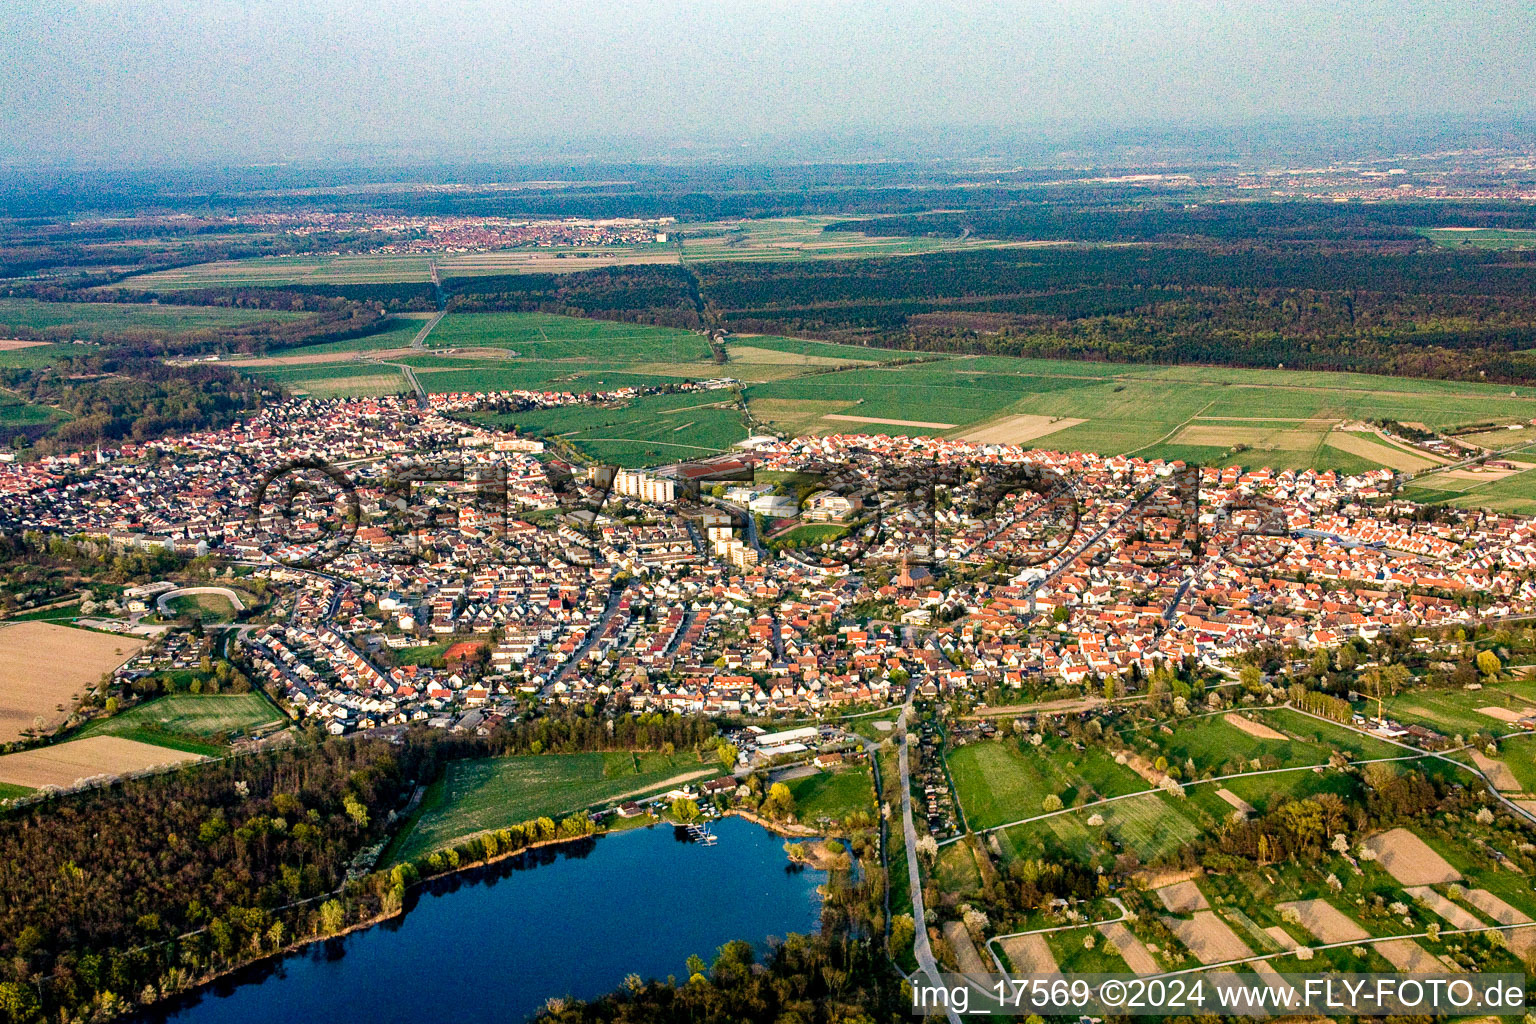
[[[1536,0],[3,0],[0,160],[1530,115]]]

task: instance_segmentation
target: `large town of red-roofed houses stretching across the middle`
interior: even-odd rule
[[[748,715],[879,708],[908,682],[928,699],[1114,695],[1160,665],[1230,674],[1227,659],[1255,645],[1327,648],[1536,609],[1536,522],[1415,516],[1390,499],[1390,470],[1190,470],[834,434],[605,476],[456,418],[622,398],[290,399],[227,430],[3,465],[3,525],[217,554],[215,571],[267,580],[278,599],[240,629],[238,657],[290,715],[336,734],[485,729],[530,703],[608,695]],[[313,467],[347,468],[330,470],[329,494],[281,500],[280,484]],[[404,485],[401,467],[418,470]],[[925,514],[885,491],[892,467],[948,474],[955,499]],[[1021,467],[1060,487],[969,500]],[[1195,474],[1189,505],[1180,488]],[[882,491],[871,519],[863,500]],[[1063,494],[1069,517],[1055,514]],[[359,514],[326,534],[343,499]],[[1283,527],[1240,530],[1260,505]],[[802,522],[829,539],[776,550]],[[442,643],[438,663],[396,657]]]

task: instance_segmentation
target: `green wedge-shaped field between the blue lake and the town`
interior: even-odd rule
[[[395,841],[393,858],[412,860],[488,829],[538,817],[665,792],[720,774],[719,761],[693,752],[530,754],[453,761],[427,791],[416,820]]]

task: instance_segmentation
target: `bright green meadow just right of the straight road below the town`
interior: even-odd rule
[[[1103,748],[1078,752],[1046,743],[1021,749],[1012,740],[986,740],[951,751],[948,761],[972,829],[1043,814],[1041,801],[1049,795],[1072,806],[1147,789],[1140,775],[1117,765]]]

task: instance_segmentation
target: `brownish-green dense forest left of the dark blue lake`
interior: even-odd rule
[[[0,1016],[106,1016],[375,913],[347,866],[422,768],[384,742],[296,746],[11,812]]]

